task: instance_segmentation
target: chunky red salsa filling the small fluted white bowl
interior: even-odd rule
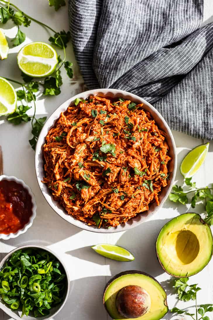
[[[0,181],[0,233],[15,233],[32,215],[32,197],[20,183]]]

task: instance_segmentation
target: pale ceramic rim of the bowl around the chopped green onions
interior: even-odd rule
[[[59,262],[63,266],[63,268],[65,270],[65,273],[66,273],[66,276],[67,276],[67,290],[66,290],[67,292],[66,292],[66,294],[64,296],[64,300],[58,306],[50,309],[50,315],[49,316],[41,316],[41,317],[37,317],[37,318],[35,318],[33,316],[26,316],[26,315],[24,315],[21,318],[21,311],[12,310],[12,309],[8,308],[1,298],[0,298],[0,308],[6,314],[11,316],[12,319],[15,319],[15,320],[21,320],[21,319],[25,319],[25,320],[48,320],[48,319],[51,319],[53,316],[55,316],[63,308],[63,306],[65,305],[65,302],[67,301],[67,298],[68,298],[68,295],[69,295],[69,289],[70,289],[69,275],[68,275],[68,272],[67,272],[67,268],[65,267],[65,264],[61,261],[61,259],[54,252],[52,252],[50,249],[47,249],[46,247],[42,247],[40,245],[22,245],[22,246],[20,246],[20,247],[18,247],[16,249],[12,250],[11,252],[9,252],[4,257],[4,259],[0,262],[0,270],[4,267],[6,261],[10,258],[10,256],[12,255],[13,252],[15,252],[17,250],[20,250],[20,249],[27,249],[27,248],[38,248],[38,249],[46,250],[47,252],[50,252],[53,256],[55,256],[59,260]]]

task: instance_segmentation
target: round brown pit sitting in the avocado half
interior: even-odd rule
[[[124,318],[143,316],[151,306],[151,299],[145,289],[138,285],[123,287],[116,297],[116,308]]]

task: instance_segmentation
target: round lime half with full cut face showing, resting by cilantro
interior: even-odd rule
[[[31,77],[49,76],[56,68],[58,56],[51,45],[32,42],[21,48],[17,56],[19,68]]]

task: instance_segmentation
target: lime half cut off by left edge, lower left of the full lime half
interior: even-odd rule
[[[15,111],[17,94],[12,84],[0,77],[0,116],[5,116]]]

